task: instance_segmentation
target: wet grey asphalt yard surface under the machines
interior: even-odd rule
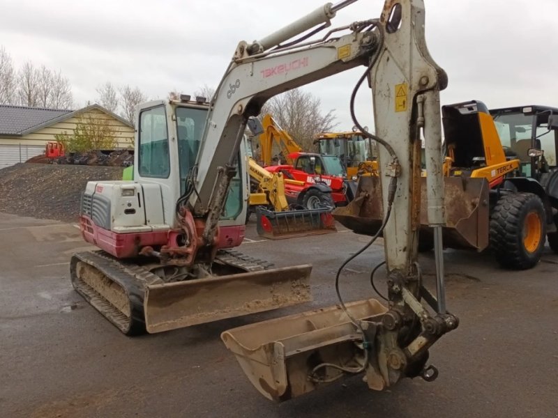
[[[368,241],[338,233],[262,240],[240,250],[277,266],[312,263],[314,302],[128,338],[73,291],[68,261],[89,248],[73,224],[0,213],[1,417],[558,417],[558,256],[512,272],[490,254],[446,250],[457,330],[430,350],[435,382],[371,392],[361,376],[285,403],[248,382],[220,341],[232,327],[335,304],[335,270]],[[345,300],[374,297],[381,242],[342,277]],[[433,254],[421,256],[433,273]],[[385,279],[379,274],[379,288]],[[430,287],[433,282],[430,280]]]

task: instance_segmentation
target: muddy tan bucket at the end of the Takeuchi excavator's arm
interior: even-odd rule
[[[346,307],[356,320],[378,318],[387,310],[373,299]],[[324,385],[308,378],[315,366],[324,362],[355,366],[350,362],[361,351],[355,344],[361,336],[338,306],[234,328],[223,332],[221,339],[252,385],[274,401],[287,401]]]

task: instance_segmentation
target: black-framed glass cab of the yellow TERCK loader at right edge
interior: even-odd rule
[[[490,114],[506,153],[521,161],[523,176],[540,180],[544,173],[557,167],[557,108],[536,105],[508,107],[492,109]],[[529,155],[535,154],[532,150],[541,151],[541,155]]]

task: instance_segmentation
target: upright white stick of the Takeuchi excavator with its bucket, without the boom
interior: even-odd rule
[[[445,307],[443,259],[437,256],[437,296],[422,283],[416,244],[421,199],[428,201],[428,223],[444,225],[442,135],[439,91],[446,74],[432,60],[425,43],[422,0],[386,0],[381,17],[361,23],[371,36],[365,54],[366,70],[352,94],[368,78],[374,101],[375,135],[379,153],[377,195],[382,196],[382,222],[389,305],[376,300],[345,304],[335,277],[339,305],[264,323],[246,325],[222,334],[250,382],[267,398],[285,401],[319,389],[335,380],[365,374],[370,389],[382,390],[402,378],[435,378],[428,366],[428,349],[458,326]],[[359,23],[350,25],[352,29]],[[358,47],[339,38],[333,45],[354,53]],[[248,50],[251,50],[248,48]],[[356,126],[364,132],[354,118]],[[421,197],[421,134],[427,148],[428,187]],[[357,196],[354,202],[365,199]],[[366,222],[367,214],[361,214]],[[436,240],[437,254],[442,242]],[[365,249],[364,248],[364,249]],[[361,252],[361,251],[359,251]],[[359,253],[357,253],[359,254]],[[346,265],[354,256],[347,258]]]

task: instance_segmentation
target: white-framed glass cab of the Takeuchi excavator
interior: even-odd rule
[[[140,105],[137,111],[134,179],[160,185],[165,223],[173,224],[176,201],[187,191],[188,178],[195,173],[208,104],[189,100],[156,100]],[[239,153],[243,154],[243,150]],[[244,158],[232,179],[220,224],[236,225],[235,219],[246,212],[248,192],[242,173]],[[189,192],[194,192],[189,189]],[[246,217],[246,213],[244,213]],[[243,218],[241,218],[243,219]]]

